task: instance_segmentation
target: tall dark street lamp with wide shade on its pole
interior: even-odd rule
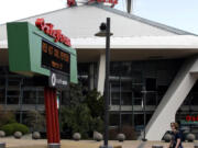
[[[106,87],[105,87],[105,141],[100,148],[112,148],[108,146],[109,139],[109,71],[110,71],[110,18],[107,18],[107,23],[100,24],[100,32],[95,36],[106,37]]]

